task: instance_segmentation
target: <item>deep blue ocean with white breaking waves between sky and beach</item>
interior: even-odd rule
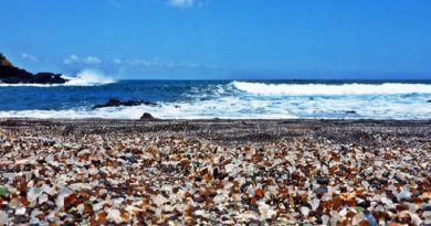
[[[111,98],[157,106],[93,109]],[[0,84],[0,118],[431,119],[431,80],[113,80]]]

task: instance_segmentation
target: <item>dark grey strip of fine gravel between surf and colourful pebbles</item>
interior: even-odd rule
[[[431,140],[431,120],[374,119],[36,119],[0,118],[2,127],[52,128],[56,132],[74,130],[86,133],[134,131],[150,136],[179,133],[210,141],[274,142],[284,137],[320,136],[337,142],[372,141],[372,134]],[[358,137],[359,136],[359,137]],[[223,142],[225,141],[225,142]]]

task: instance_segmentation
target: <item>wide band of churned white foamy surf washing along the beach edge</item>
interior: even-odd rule
[[[332,96],[336,97],[336,96]],[[159,119],[430,119],[424,97],[242,99],[222,97],[208,100],[158,103],[158,106],[77,107],[61,110],[7,110],[0,118],[105,118],[139,119],[150,112]]]

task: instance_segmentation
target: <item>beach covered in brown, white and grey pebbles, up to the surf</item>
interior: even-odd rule
[[[431,225],[431,121],[0,120],[0,225]]]

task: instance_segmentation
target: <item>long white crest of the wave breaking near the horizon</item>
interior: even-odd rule
[[[264,84],[232,82],[236,89],[254,95],[374,95],[374,94],[431,94],[430,84]]]

